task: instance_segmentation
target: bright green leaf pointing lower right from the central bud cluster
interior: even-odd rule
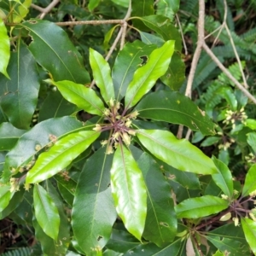
[[[199,174],[217,172],[212,160],[200,149],[185,139],[178,140],[169,131],[137,130],[137,137],[155,157],[180,171]]]

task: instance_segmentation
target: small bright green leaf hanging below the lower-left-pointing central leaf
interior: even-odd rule
[[[40,185],[33,189],[35,217],[44,233],[57,240],[60,227],[60,215],[54,202]]]

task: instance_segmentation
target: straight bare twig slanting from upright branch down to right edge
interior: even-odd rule
[[[203,49],[207,52],[207,54],[212,58],[212,61],[214,61],[217,66],[225,73],[225,75],[234,83],[236,84],[236,87],[240,89],[245,96],[247,96],[253,103],[256,104],[256,98],[246,89],[242,84],[240,84],[234,76],[230,73],[230,71],[224,67],[224,65],[218,60],[216,55],[213,54],[212,50],[207,46],[206,43],[203,44]]]

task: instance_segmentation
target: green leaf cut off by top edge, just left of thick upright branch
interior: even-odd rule
[[[173,20],[174,15],[179,9],[180,0],[160,0],[157,2],[157,15],[164,15]]]

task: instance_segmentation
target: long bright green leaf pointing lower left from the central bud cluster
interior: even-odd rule
[[[96,131],[79,131],[56,142],[49,151],[39,155],[26,174],[26,183],[39,183],[67,167],[100,136]]]

